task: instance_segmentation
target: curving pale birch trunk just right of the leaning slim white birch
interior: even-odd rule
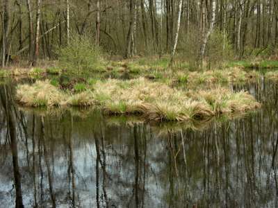
[[[206,51],[206,44],[208,42],[208,38],[211,35],[211,33],[213,33],[213,28],[214,28],[214,24],[215,24],[215,13],[216,13],[216,0],[212,0],[212,11],[211,11],[211,24],[208,28],[208,31],[206,32],[206,34],[204,35],[204,39],[202,42],[202,46],[201,46],[201,51],[200,51],[200,56],[199,56],[199,63],[203,64],[203,60],[204,60],[204,52]]]

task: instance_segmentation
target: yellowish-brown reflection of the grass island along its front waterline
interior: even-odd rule
[[[133,126],[145,124],[145,119],[142,116],[134,115],[121,115],[121,116],[102,116],[101,111],[92,107],[80,108],[80,107],[19,107],[26,113],[36,114],[39,116],[49,116],[54,119],[68,118],[68,115],[72,115],[76,118],[86,119],[85,123],[92,126],[92,123],[101,123],[104,121],[108,126]],[[168,135],[169,133],[180,133],[183,130],[206,130],[212,123],[221,125],[223,122],[227,122],[231,119],[241,119],[245,114],[222,114],[218,117],[210,117],[204,121],[188,121],[186,123],[180,122],[149,122],[148,125],[152,128],[152,132],[157,135]]]

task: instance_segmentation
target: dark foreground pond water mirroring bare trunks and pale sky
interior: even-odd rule
[[[0,207],[278,206],[276,83],[233,87],[260,110],[190,126],[22,109],[14,85],[0,85]]]

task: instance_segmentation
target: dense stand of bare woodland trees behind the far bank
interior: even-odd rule
[[[182,51],[192,28],[199,31],[199,60],[214,30],[239,58],[278,42],[276,0],[2,0],[0,6],[2,67],[14,56],[33,64],[56,58],[71,35],[88,35],[126,58]]]

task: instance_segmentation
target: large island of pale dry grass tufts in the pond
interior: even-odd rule
[[[219,114],[259,107],[247,92],[217,87],[184,91],[147,78],[96,81],[82,92],[70,92],[49,80],[19,85],[17,100],[26,106],[94,106],[105,114],[138,114],[150,121],[203,121]]]

